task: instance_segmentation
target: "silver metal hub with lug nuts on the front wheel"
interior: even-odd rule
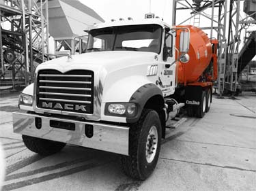
[[[152,126],[147,135],[147,143],[146,143],[146,159],[147,162],[150,163],[154,160],[156,156],[156,149],[158,144],[158,134],[156,126]]]

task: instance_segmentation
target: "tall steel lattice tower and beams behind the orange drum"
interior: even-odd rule
[[[247,15],[245,18],[240,16],[240,5],[242,0],[206,0],[201,1],[203,5],[192,0],[173,0],[173,25],[176,24],[176,15],[179,10],[191,10],[191,16],[183,20],[184,24],[191,18],[200,14],[210,20],[210,27],[200,26],[203,30],[210,30],[210,38],[213,38],[213,31],[217,32],[218,44],[218,91],[220,96],[224,92],[236,92],[238,79],[238,58],[241,33],[245,24],[255,24],[255,20],[248,18],[255,16],[256,12]],[[228,9],[229,7],[229,9]],[[214,10],[218,8],[218,10]],[[205,10],[211,9],[212,15],[205,14]],[[214,16],[218,12],[218,16]],[[214,23],[217,26],[214,27]]]

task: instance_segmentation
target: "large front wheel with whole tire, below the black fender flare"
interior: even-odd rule
[[[144,109],[140,120],[130,127],[129,156],[121,157],[126,175],[139,180],[151,175],[159,158],[161,135],[158,113]]]

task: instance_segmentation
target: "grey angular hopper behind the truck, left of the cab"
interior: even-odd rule
[[[94,10],[77,0],[48,1],[48,20],[49,33],[55,39],[55,54],[61,48],[74,54],[79,49],[79,39],[75,37],[86,35],[83,30],[88,25],[104,22]],[[87,37],[81,39],[86,41]]]

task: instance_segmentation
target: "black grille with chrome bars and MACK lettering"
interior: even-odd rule
[[[72,70],[61,73],[53,69],[39,71],[37,106],[44,109],[92,114],[94,72]]]

